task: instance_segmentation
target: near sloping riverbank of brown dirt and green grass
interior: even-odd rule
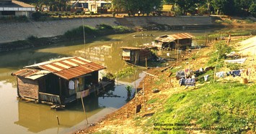
[[[169,63],[174,66],[172,69],[146,70],[156,77],[144,77],[144,85],[138,87],[144,90],[138,92],[136,99],[79,133],[255,133],[255,72],[247,84],[240,82],[241,77],[214,79],[214,70],[204,74],[210,75],[207,82],[199,76],[195,87],[180,86],[175,78],[175,72],[188,66],[193,70],[216,67],[216,72],[255,68],[250,55],[244,55],[248,59],[244,64],[224,62],[225,53],[238,52],[238,42],[248,37],[240,38],[232,38],[229,44],[222,39],[210,42],[208,47],[187,54],[188,60]],[[155,89],[159,92],[153,92]],[[141,110],[135,115],[137,105]]]

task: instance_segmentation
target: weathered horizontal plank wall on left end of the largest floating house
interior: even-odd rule
[[[19,97],[29,97],[38,100],[38,82],[35,80],[29,80],[22,77],[18,77],[18,92]]]

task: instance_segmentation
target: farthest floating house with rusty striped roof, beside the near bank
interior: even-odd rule
[[[162,35],[156,37],[154,41],[160,48],[180,49],[191,47],[193,35],[188,33]]]

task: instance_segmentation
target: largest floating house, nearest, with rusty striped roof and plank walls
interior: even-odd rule
[[[113,82],[98,81],[99,70],[103,69],[82,57],[63,57],[32,64],[12,75],[17,77],[19,98],[65,107],[69,102],[113,85]]]

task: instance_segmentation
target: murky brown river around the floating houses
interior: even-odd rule
[[[136,34],[154,34],[155,37],[162,34],[175,34],[174,32],[140,32]],[[184,32],[184,31],[182,31]],[[194,30],[186,31],[198,35],[212,33],[214,30]],[[133,33],[134,34],[134,33]],[[22,67],[38,62],[48,61],[60,57],[81,56],[107,67],[100,72],[115,73],[122,70],[125,63],[121,60],[120,47],[138,47],[141,44],[152,42],[154,37],[133,37],[133,34],[110,35],[98,37],[90,42],[61,42],[53,44],[52,47],[37,47],[32,49],[18,50],[15,52],[2,52],[0,54],[0,133],[71,133],[103,118],[108,113],[112,113],[127,102],[125,87],[134,85],[133,77],[126,77],[119,80],[119,84],[110,90],[106,95],[117,95],[120,97],[94,97],[85,99],[86,115],[81,106],[81,102],[74,103],[66,110],[50,110],[50,106],[35,104],[17,100],[17,81],[11,76]],[[204,41],[193,41],[193,44],[200,45]],[[144,77],[138,71],[137,79]],[[139,82],[139,80],[137,81]],[[138,85],[138,83],[136,83]],[[134,90],[133,90],[134,92]],[[58,116],[60,125],[56,116]]]

